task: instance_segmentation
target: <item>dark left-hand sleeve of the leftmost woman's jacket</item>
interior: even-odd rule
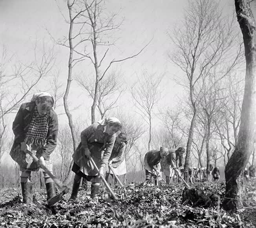
[[[24,133],[24,129],[22,127],[23,114],[23,106],[21,105],[13,121],[13,133],[15,135],[14,141],[17,143],[23,142],[26,137],[26,134]]]

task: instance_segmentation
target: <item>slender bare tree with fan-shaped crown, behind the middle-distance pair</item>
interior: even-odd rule
[[[149,126],[148,150],[150,150],[150,143],[152,137],[152,115],[155,104],[160,100],[161,93],[159,91],[159,84],[163,79],[163,75],[149,75],[144,72],[143,76],[138,78],[138,82],[131,88],[135,106],[139,109],[139,115],[143,117]]]

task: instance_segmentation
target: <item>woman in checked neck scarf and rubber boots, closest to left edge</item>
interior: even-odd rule
[[[50,155],[57,145],[58,118],[53,111],[54,99],[49,93],[36,93],[31,102],[20,106],[13,121],[13,133],[15,139],[10,155],[20,166],[20,183],[22,188],[23,202],[32,203],[31,171],[43,171],[47,198],[56,195],[53,180],[40,168],[44,164],[52,171]],[[39,159],[34,162],[26,153],[27,145],[31,152]]]

